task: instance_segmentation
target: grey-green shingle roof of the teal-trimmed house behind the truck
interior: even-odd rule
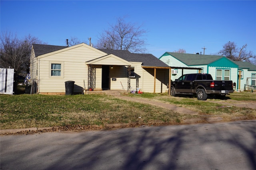
[[[182,63],[193,66],[193,65],[206,65],[210,64],[224,56],[219,55],[198,55],[198,54],[186,54],[186,53],[171,53],[166,52],[172,57],[178,59]]]

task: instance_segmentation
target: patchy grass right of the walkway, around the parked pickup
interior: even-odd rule
[[[196,96],[168,96],[162,94],[142,94],[131,95],[136,98],[147,98],[157,102],[174,104],[178,107],[185,107],[198,112],[201,116],[222,117],[223,121],[232,121],[236,119],[256,119],[256,108],[248,108],[246,103],[252,103],[256,106],[256,93],[242,92],[233,93],[225,100],[208,98],[206,101],[197,100]],[[238,103],[245,103],[243,107],[234,106]]]

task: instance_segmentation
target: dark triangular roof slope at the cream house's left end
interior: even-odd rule
[[[35,56],[44,55],[54,51],[58,51],[66,48],[67,46],[56,46],[56,45],[44,45],[44,44],[33,44]]]

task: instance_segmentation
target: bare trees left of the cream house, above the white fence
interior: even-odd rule
[[[18,39],[10,32],[2,33],[0,38],[0,66],[14,68],[16,74],[28,72],[32,43],[42,43],[36,37],[28,35]]]

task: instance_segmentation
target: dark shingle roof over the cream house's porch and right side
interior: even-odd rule
[[[142,62],[142,66],[168,66],[152,54],[131,53],[127,50],[98,49],[107,54],[113,54],[129,62]]]

